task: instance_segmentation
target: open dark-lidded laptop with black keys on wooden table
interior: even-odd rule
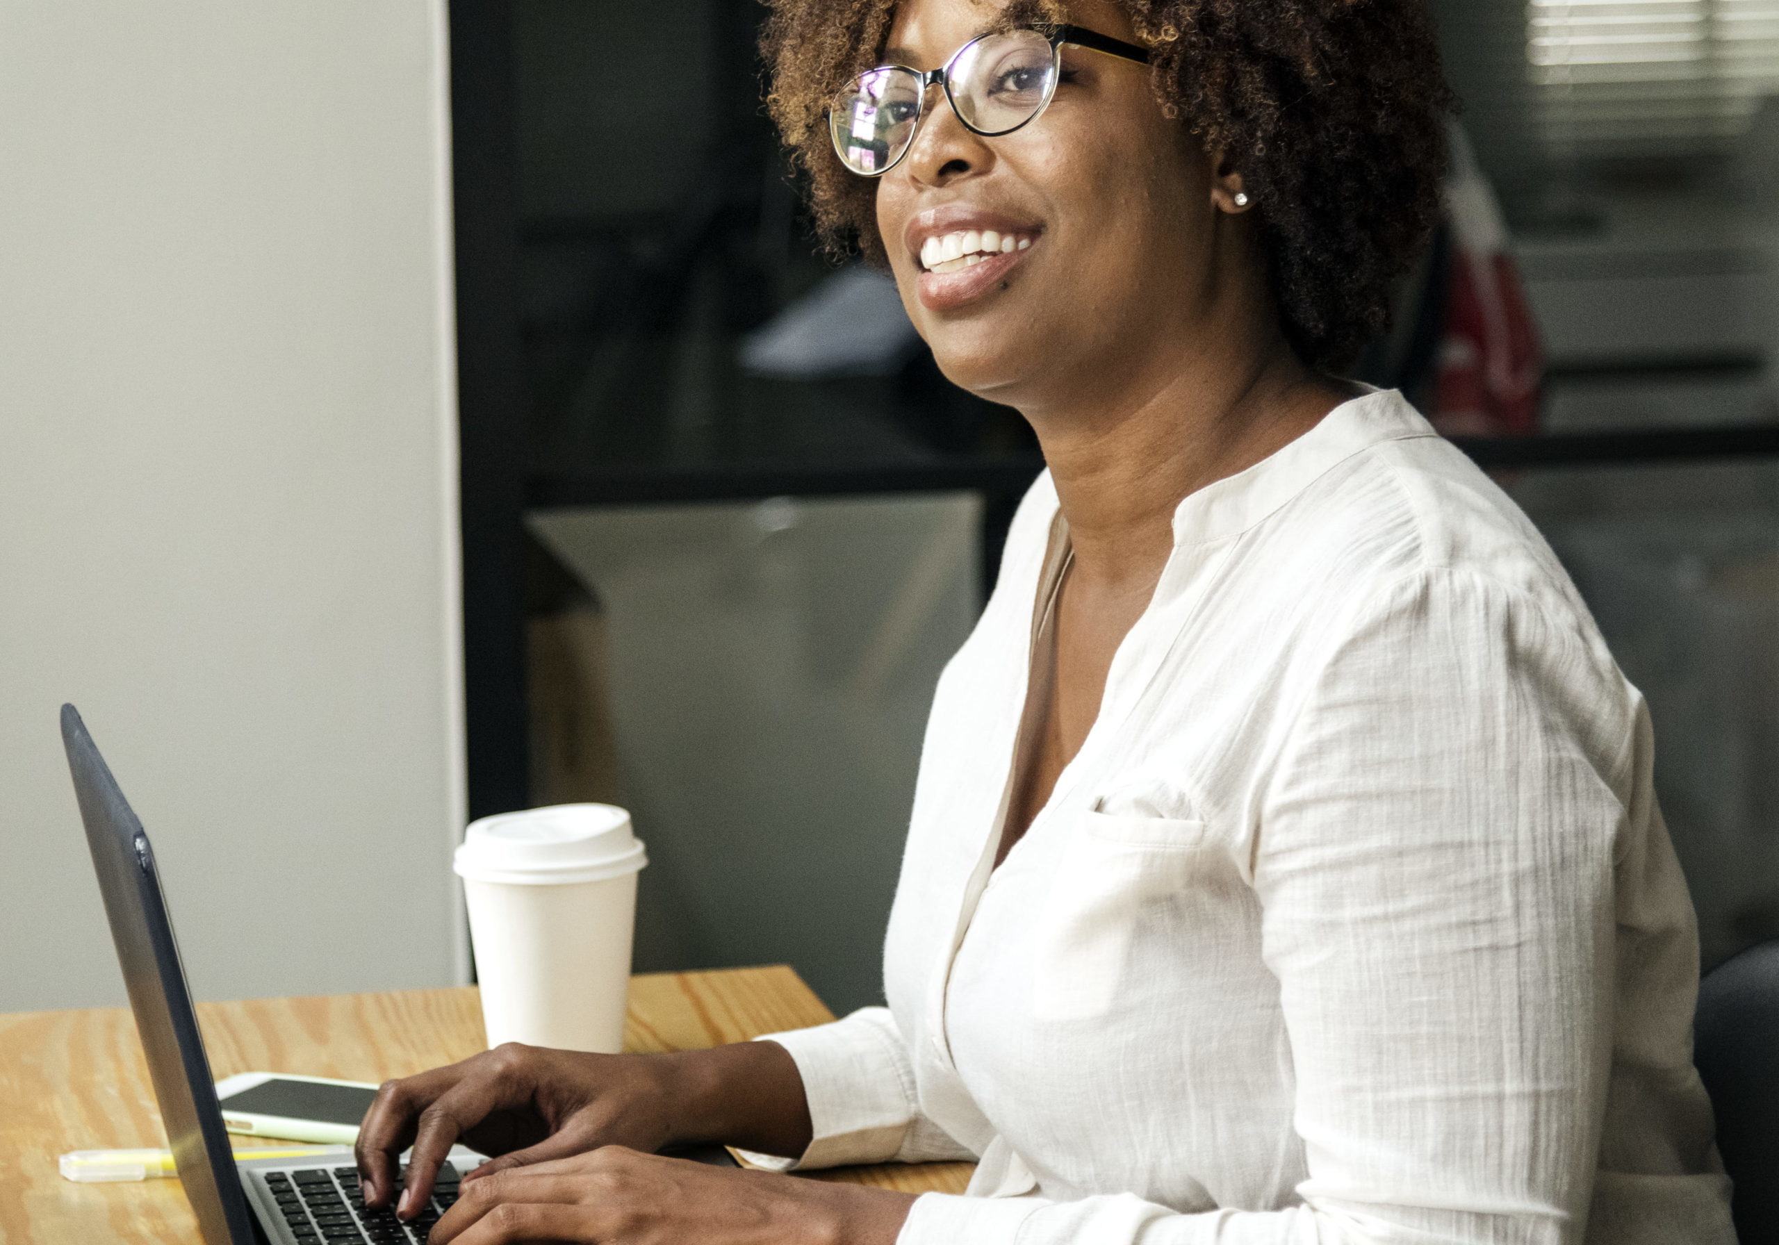
[[[235,1158],[173,939],[155,850],[73,704],[62,706],[62,743],[160,1119],[205,1245],[425,1241],[432,1224],[457,1201],[457,1165],[479,1160],[471,1151],[452,1151],[455,1163],[439,1169],[431,1202],[411,1224],[397,1220],[393,1211],[365,1209],[358,1167],[347,1154]],[[737,1165],[720,1145],[678,1154]]]

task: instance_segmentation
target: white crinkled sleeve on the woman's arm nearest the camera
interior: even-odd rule
[[[1601,713],[1617,674],[1537,603],[1462,571],[1388,583],[1332,630],[1247,811],[1300,1204],[927,1195],[902,1245],[1583,1238],[1614,861],[1647,829],[1615,793],[1633,735]],[[1720,1179],[1690,1179],[1674,1234],[1649,1240],[1722,1240]]]

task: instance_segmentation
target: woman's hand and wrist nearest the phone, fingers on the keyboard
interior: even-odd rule
[[[461,1064],[384,1081],[358,1133],[366,1206],[390,1202],[398,1156],[413,1145],[397,1213],[418,1213],[459,1140],[495,1156],[471,1177],[600,1145],[653,1153],[737,1142],[799,1154],[809,1144],[809,1108],[797,1065],[777,1042],[671,1055],[585,1055],[507,1042]]]

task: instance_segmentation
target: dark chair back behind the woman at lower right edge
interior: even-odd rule
[[[1779,1243],[1779,939],[1699,982],[1694,1062],[1717,1113],[1717,1149],[1736,1183],[1742,1245]]]

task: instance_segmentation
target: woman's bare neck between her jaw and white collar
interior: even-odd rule
[[[1091,406],[1028,411],[1069,523],[1073,574],[1146,592],[1185,496],[1295,441],[1347,397],[1274,336],[1265,349],[1194,352]]]

